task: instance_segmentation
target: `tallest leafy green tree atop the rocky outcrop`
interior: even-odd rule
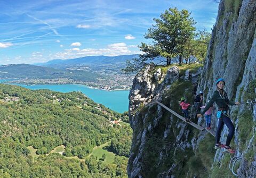
[[[153,24],[145,34],[146,39],[153,39],[153,44],[141,43],[138,46],[143,54],[140,55],[140,64],[156,57],[165,57],[166,64],[171,64],[173,58],[179,58],[182,62],[184,47],[188,41],[194,38],[196,28],[195,21],[190,18],[187,10],[179,11],[177,8],[166,10],[159,19],[154,19]]]

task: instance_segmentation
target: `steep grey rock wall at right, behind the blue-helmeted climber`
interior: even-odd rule
[[[219,5],[218,20],[212,32],[199,87],[208,92],[204,96],[207,100],[216,89],[215,79],[223,77],[229,98],[241,102],[247,99],[256,101],[256,2],[228,2],[222,1]],[[235,156],[242,158],[237,164],[240,165],[239,177],[256,177],[255,107],[253,103],[231,108],[236,126],[233,147],[237,150]],[[222,140],[226,140],[227,133],[225,128]],[[225,155],[218,150],[215,162],[223,159]],[[221,169],[221,166],[215,165],[214,168]]]

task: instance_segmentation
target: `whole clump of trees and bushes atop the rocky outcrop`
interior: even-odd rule
[[[126,62],[125,73],[140,70],[149,62],[171,63],[202,63],[206,55],[211,33],[195,32],[196,22],[190,18],[187,10],[177,8],[166,10],[145,34],[146,39],[153,39],[153,44],[141,43],[143,52],[139,58]]]

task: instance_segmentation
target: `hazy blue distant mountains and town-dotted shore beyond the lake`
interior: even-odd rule
[[[126,61],[133,58],[139,58],[139,54],[86,56],[34,65],[2,65],[0,79],[17,79],[16,82],[29,84],[79,83],[107,90],[129,89],[134,74],[126,75],[122,69],[125,68]],[[154,62],[159,64],[161,60],[163,58],[157,58]]]

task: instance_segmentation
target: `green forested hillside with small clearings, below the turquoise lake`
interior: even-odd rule
[[[127,119],[125,114],[81,92],[1,84],[0,98],[0,177],[126,177],[132,131],[128,124],[109,122]],[[90,155],[106,142],[104,149],[119,155],[112,163]],[[46,155],[61,145],[66,147],[63,155]],[[36,149],[36,157],[29,146]]]

